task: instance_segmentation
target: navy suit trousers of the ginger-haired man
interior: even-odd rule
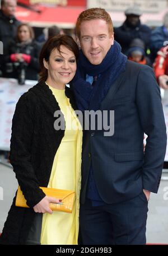
[[[128,201],[80,208],[82,244],[146,244],[148,201],[142,192]]]

